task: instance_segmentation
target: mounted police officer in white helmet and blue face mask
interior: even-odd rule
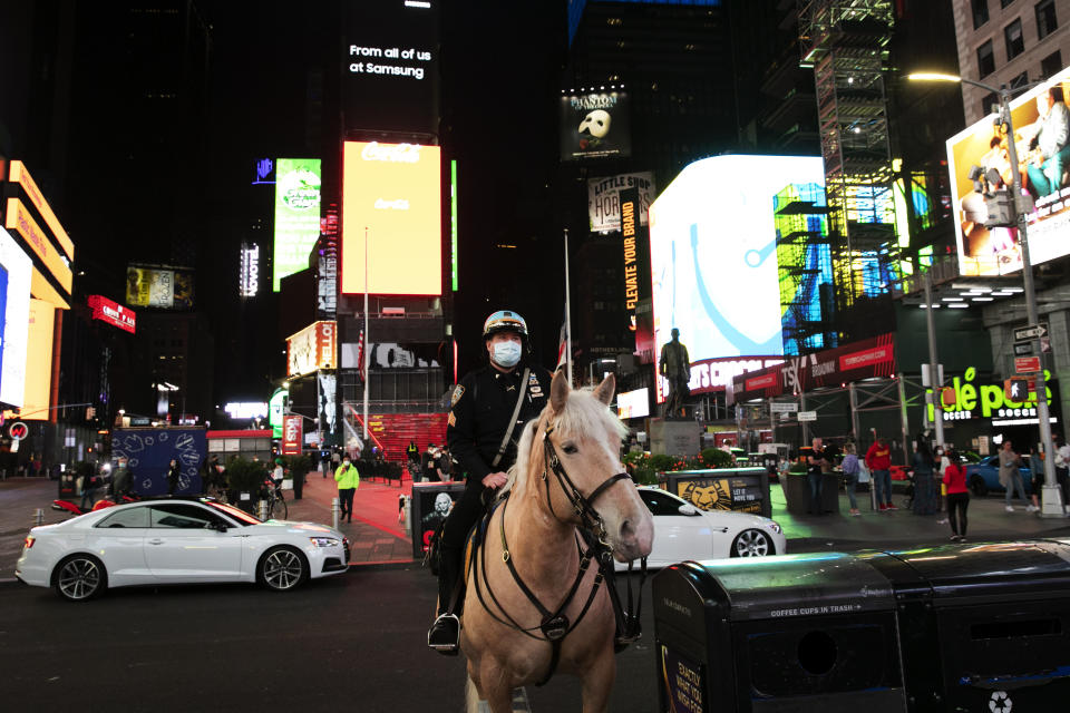
[[[503,310],[487,318],[483,340],[489,363],[457,384],[446,428],[466,485],[442,529],[438,617],[427,633],[427,645],[444,654],[456,654],[459,646],[465,539],[494,490],[508,479],[506,470],[516,460],[524,424],[546,406],[552,379],[548,371],[528,363],[527,323],[516,312]]]

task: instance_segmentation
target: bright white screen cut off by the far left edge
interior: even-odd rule
[[[0,401],[21,407],[26,385],[26,342],[30,323],[30,274],[33,261],[3,228],[0,228],[0,268],[6,282],[2,291]]]

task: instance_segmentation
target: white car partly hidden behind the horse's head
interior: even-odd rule
[[[768,557],[784,555],[788,540],[776,521],[730,510],[700,510],[683,498],[653,486],[641,486],[639,497],[654,518],[654,547],[649,568],[688,559]],[[617,569],[628,565],[616,563]]]

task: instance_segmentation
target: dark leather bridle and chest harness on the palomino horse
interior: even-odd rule
[[[556,518],[557,514],[554,510],[553,498],[549,494],[549,477],[547,473],[547,468],[554,473],[557,478],[557,482],[561,485],[562,492],[568,499],[568,502],[572,505],[573,511],[576,517],[580,518],[580,530],[583,534],[584,540],[587,543],[587,549],[584,551],[583,546],[580,544],[578,539],[576,541],[576,547],[580,551],[580,568],[576,573],[576,578],[572,583],[568,593],[562,599],[561,604],[554,609],[551,611],[547,608],[535,593],[525,584],[524,579],[521,577],[521,574],[516,570],[516,567],[513,565],[513,557],[509,554],[509,546],[505,538],[505,510],[508,507],[508,494],[503,500],[502,505],[502,519],[499,522],[499,533],[502,538],[502,560],[508,567],[509,574],[513,576],[513,580],[516,583],[521,592],[524,593],[524,596],[538,609],[538,613],[542,615],[542,622],[537,627],[525,628],[521,626],[506,611],[505,607],[498,602],[497,597],[494,595],[494,592],[490,589],[489,579],[487,579],[487,568],[486,568],[486,548],[480,547],[479,564],[481,568],[483,579],[487,588],[487,594],[490,595],[492,600],[498,611],[505,616],[507,622],[500,618],[497,614],[490,611],[490,607],[487,606],[487,603],[483,598],[483,592],[479,587],[479,577],[475,577],[476,584],[476,594],[479,598],[479,603],[483,604],[484,609],[498,623],[514,628],[525,636],[531,638],[546,641],[551,644],[552,655],[549,662],[549,668],[546,672],[546,675],[539,681],[536,685],[543,685],[554,675],[554,672],[557,668],[557,662],[561,658],[561,645],[565,636],[567,636],[576,626],[580,625],[580,622],[583,621],[583,617],[586,615],[587,609],[591,608],[591,604],[594,602],[594,597],[599,592],[599,586],[602,584],[603,579],[607,579],[610,585],[606,587],[606,590],[610,594],[610,603],[613,607],[613,616],[616,624],[616,634],[614,636],[614,646],[616,651],[622,651],[629,644],[636,641],[642,634],[642,628],[640,624],[640,615],[642,613],[642,588],[643,582],[646,578],[646,558],[643,557],[641,560],[641,579],[639,584],[639,594],[635,599],[636,606],[633,611],[632,604],[632,583],[631,579],[628,582],[628,608],[625,609],[621,605],[620,594],[616,592],[616,587],[613,586],[613,577],[615,576],[615,570],[613,569],[613,550],[612,546],[606,541],[607,533],[605,531],[605,524],[602,520],[602,516],[599,515],[599,511],[594,509],[594,502],[597,498],[613,487],[620,480],[631,480],[631,476],[626,472],[617,472],[604,481],[602,481],[599,487],[596,487],[590,496],[584,496],[580,488],[576,487],[576,484],[573,482],[572,478],[568,477],[567,471],[561,462],[561,458],[557,456],[557,450],[554,448],[553,442],[549,439],[549,434],[553,433],[554,426],[547,423],[546,431],[543,438],[543,450],[544,450],[544,467],[541,476],[541,480],[546,486],[546,504],[549,506],[551,514]],[[588,565],[591,560],[595,559],[597,563],[599,572],[595,574],[594,583],[591,587],[591,593],[587,595],[587,599],[583,605],[583,608],[580,611],[580,615],[574,622],[568,622],[568,617],[565,616],[564,612],[568,604],[572,602],[573,597],[576,595],[576,592],[580,588],[580,584],[583,582],[583,577],[587,573]],[[632,572],[634,563],[629,563],[628,570],[629,574]],[[543,636],[536,636],[532,632],[534,631],[542,632]]]

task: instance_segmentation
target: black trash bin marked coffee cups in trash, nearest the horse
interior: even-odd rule
[[[683,563],[653,580],[659,711],[906,711],[895,602],[852,555]]]

